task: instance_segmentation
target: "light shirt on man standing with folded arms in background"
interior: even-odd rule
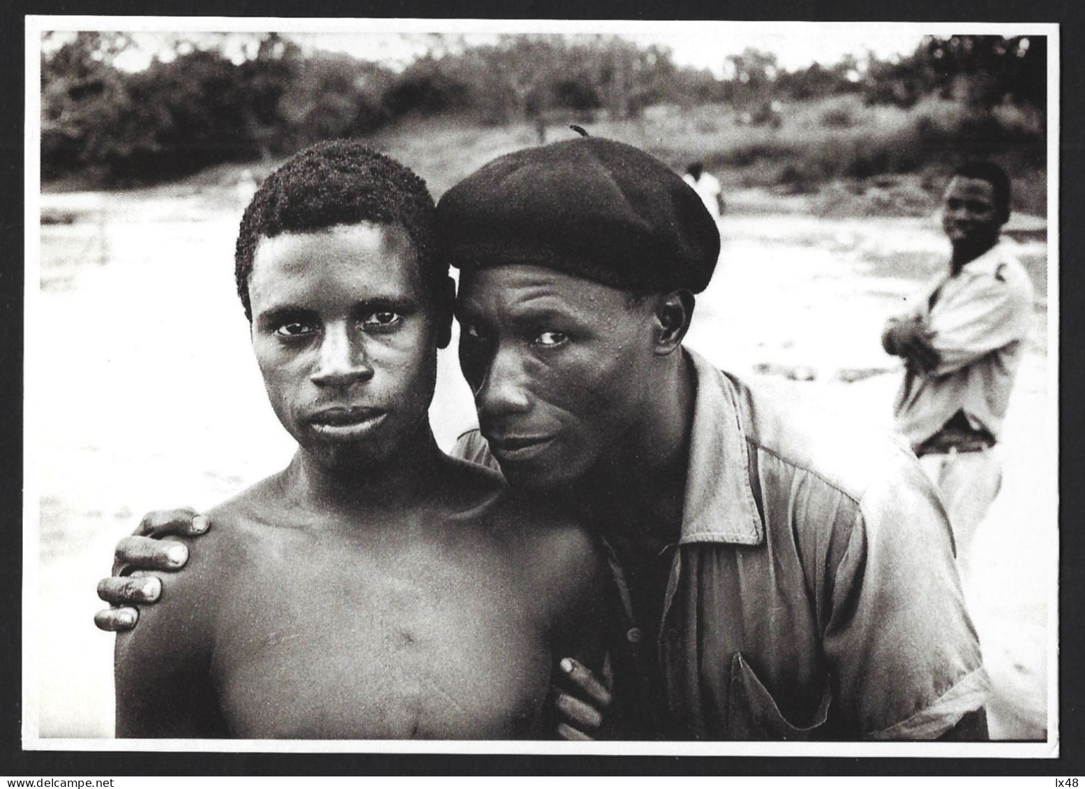
[[[921,318],[941,357],[930,372],[906,369],[896,395],[896,428],[912,446],[957,411],[998,438],[1032,326],[1032,282],[1013,246],[999,241],[956,276],[943,272],[917,294],[911,309],[891,319]]]

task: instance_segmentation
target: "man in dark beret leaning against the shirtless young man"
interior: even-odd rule
[[[482,167],[437,219],[478,411],[455,454],[605,542],[633,736],[985,738],[953,537],[909,449],[684,347],[719,236],[680,177],[576,139]],[[155,556],[138,545],[122,564]],[[579,695],[559,705],[587,731],[605,695]]]

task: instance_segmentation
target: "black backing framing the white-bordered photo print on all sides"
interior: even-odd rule
[[[1078,307],[1083,279],[1082,212],[1085,154],[1082,103],[1082,0],[742,0],[741,2],[365,2],[355,0],[0,0],[0,776],[126,775],[955,775],[1055,776],[1085,779],[1082,755],[1083,656],[1081,453],[1085,449],[1081,372],[1085,367]],[[23,751],[22,489],[23,489],[23,139],[24,15],[385,16],[571,20],[750,20],[813,22],[1059,23],[1061,110],[1059,154],[1059,718],[1060,756],[1021,759],[850,759],[766,756],[544,756],[433,754],[136,753]],[[1051,170],[1049,170],[1051,171]],[[62,364],[62,362],[61,362]],[[76,387],[79,382],[73,382]],[[1022,539],[1027,534],[1022,533]],[[107,557],[102,557],[103,573]],[[1052,612],[1054,613],[1054,612]],[[39,623],[49,626],[48,622]],[[90,623],[88,623],[90,626]],[[224,742],[224,750],[230,748]],[[947,752],[953,749],[946,745]],[[726,780],[726,778],[725,778]],[[972,784],[972,780],[968,780]],[[1045,786],[1044,781],[1029,781]],[[1080,782],[1080,786],[1085,784]]]

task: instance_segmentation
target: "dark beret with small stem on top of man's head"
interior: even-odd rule
[[[449,263],[553,268],[623,290],[700,293],[719,256],[701,199],[658,158],[585,137],[494,160],[437,204]]]

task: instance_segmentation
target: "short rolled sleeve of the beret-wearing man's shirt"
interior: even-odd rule
[[[914,458],[878,474],[835,568],[826,657],[864,737],[936,738],[988,692],[945,511]]]

